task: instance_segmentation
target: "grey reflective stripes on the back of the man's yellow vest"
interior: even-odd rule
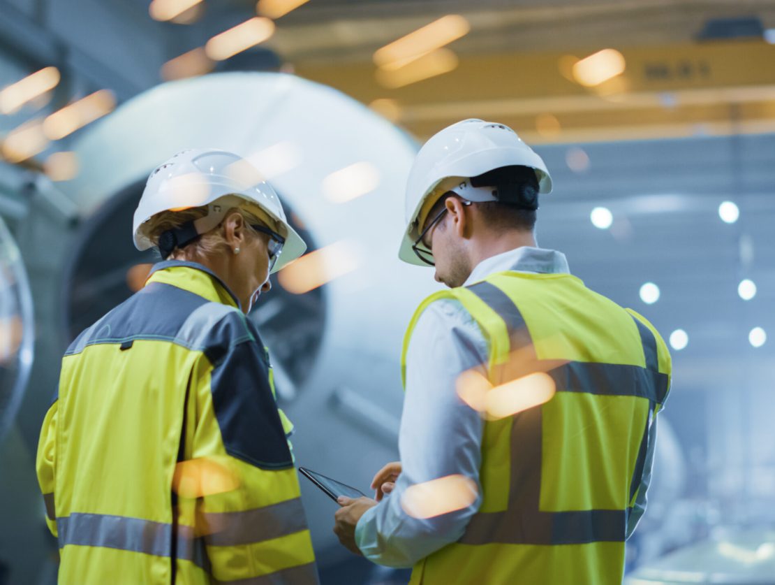
[[[532,343],[522,314],[505,292],[486,281],[468,288],[505,321],[512,351]],[[667,393],[667,376],[659,372],[656,339],[648,327],[633,319],[638,325],[646,368],[569,362],[547,372],[555,381],[556,391],[660,401]],[[542,421],[543,407],[525,410],[512,418],[508,509],[475,514],[460,538],[461,543],[565,545],[625,541],[629,510],[540,511]]]

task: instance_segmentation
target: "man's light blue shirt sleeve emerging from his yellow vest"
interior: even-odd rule
[[[487,362],[487,344],[457,301],[432,303],[418,320],[407,355],[407,382],[398,448],[401,476],[394,491],[356,527],[363,556],[381,565],[408,567],[463,535],[481,496],[462,510],[418,519],[401,508],[407,488],[461,474],[477,483],[484,421],[456,393],[461,372]]]

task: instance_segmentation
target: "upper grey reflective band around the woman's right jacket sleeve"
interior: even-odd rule
[[[209,546],[246,545],[307,529],[301,498],[239,512],[202,514]]]

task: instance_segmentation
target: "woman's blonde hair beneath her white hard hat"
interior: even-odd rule
[[[247,229],[253,234],[257,234],[257,232],[250,226],[257,223],[260,225],[267,225],[270,229],[274,229],[273,226],[268,225],[267,223],[269,218],[259,217],[258,213],[252,213],[242,207],[232,207],[229,209],[223,216],[223,220],[226,220],[226,218],[234,212],[243,216]],[[188,209],[183,209],[181,211],[162,211],[148,220],[145,227],[145,233],[148,234],[148,238],[153,242],[153,245],[158,248],[159,237],[161,234],[164,234],[165,231],[174,230],[175,228],[183,226],[184,223],[198,220],[206,216],[207,213],[207,206],[189,207]],[[263,216],[264,214],[261,213],[260,215]],[[200,235],[190,244],[187,244],[182,248],[175,247],[170,255],[167,256],[167,260],[200,261],[202,258],[208,256],[215,256],[226,251],[230,252],[231,249],[229,248],[229,245],[226,244],[226,238],[223,236],[222,226],[223,221],[212,228],[212,230]]]

